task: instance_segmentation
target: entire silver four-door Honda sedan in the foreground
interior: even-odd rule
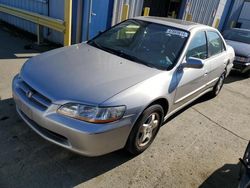
[[[234,60],[218,30],[139,17],[88,41],[28,60],[13,79],[24,121],[87,156],[139,154],[173,113],[219,94]]]

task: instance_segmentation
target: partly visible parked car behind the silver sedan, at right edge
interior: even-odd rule
[[[233,68],[250,76],[250,30],[233,28],[223,32],[226,43],[234,48]]]

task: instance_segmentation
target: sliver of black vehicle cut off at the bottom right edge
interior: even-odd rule
[[[244,156],[240,159],[240,183],[239,188],[249,188],[250,187],[250,142],[246,148]]]

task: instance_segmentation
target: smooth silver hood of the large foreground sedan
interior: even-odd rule
[[[28,60],[20,75],[54,103],[98,105],[159,72],[83,43]]]

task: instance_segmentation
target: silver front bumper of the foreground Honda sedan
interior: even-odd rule
[[[85,156],[99,156],[125,146],[131,130],[131,117],[108,124],[92,124],[56,113],[57,104],[40,109],[19,91],[19,79],[12,83],[18,114],[40,136]]]

